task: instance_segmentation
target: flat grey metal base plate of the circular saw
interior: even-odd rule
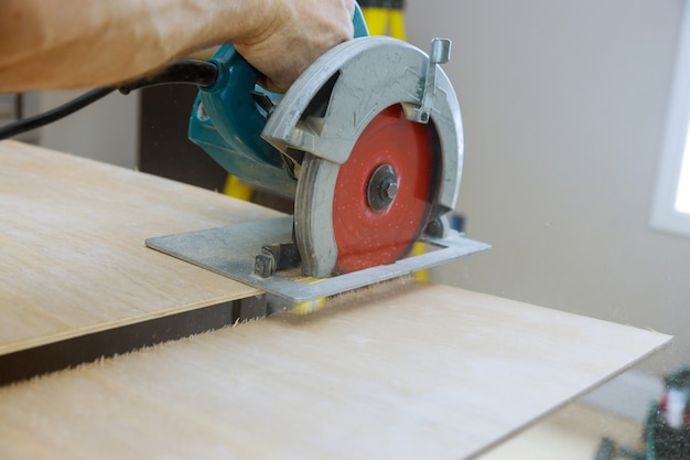
[[[443,239],[424,238],[431,250],[351,274],[315,280],[299,269],[278,271],[269,278],[254,274],[261,246],[290,243],[292,216],[256,221],[147,239],[148,247],[206,268],[266,291],[283,306],[336,296],[380,281],[410,275],[470,254],[490,248],[486,243],[465,238],[455,231]],[[317,281],[317,282],[314,282]]]

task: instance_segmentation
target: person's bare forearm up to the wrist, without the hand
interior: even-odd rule
[[[134,78],[203,45],[260,34],[270,3],[2,0],[0,92]]]

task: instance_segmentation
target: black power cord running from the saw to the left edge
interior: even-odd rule
[[[22,132],[31,131],[32,129],[36,129],[53,121],[57,121],[61,118],[65,118],[66,116],[80,110],[96,100],[104,98],[116,89],[122,94],[129,94],[134,89],[172,83],[184,83],[207,88],[216,82],[217,77],[218,67],[213,63],[196,60],[176,61],[160,74],[119,87],[91,89],[90,92],[84,93],[83,95],[63,104],[62,106],[55,107],[52,110],[7,125],[0,128],[0,140],[19,136]]]

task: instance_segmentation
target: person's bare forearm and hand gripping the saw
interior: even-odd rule
[[[0,92],[116,86],[227,42],[284,92],[353,36],[353,12],[354,0],[0,0]]]

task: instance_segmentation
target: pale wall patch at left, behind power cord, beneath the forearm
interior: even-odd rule
[[[84,90],[39,94],[41,111],[71,100]],[[41,128],[40,145],[126,168],[136,168],[139,151],[139,92],[114,93],[84,109]]]

